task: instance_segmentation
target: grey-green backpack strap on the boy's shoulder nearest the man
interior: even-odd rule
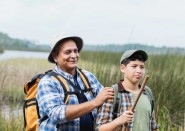
[[[121,107],[121,93],[118,92],[118,84],[112,85],[114,89],[114,101],[113,101],[113,120],[117,118],[118,111]]]

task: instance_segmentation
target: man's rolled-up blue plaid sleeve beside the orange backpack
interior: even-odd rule
[[[38,85],[37,101],[41,117],[47,115],[53,123],[66,122],[66,105],[64,91],[58,81],[51,77],[41,79]]]

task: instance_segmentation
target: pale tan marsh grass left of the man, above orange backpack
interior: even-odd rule
[[[52,69],[53,65],[42,59],[11,59],[0,61],[0,102],[23,102],[25,82],[35,74]]]

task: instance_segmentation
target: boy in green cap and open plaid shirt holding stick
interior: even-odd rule
[[[150,98],[145,93],[146,89],[139,98],[134,115],[129,111],[139,93],[139,82],[145,74],[147,59],[148,55],[143,50],[128,50],[122,55],[120,70],[124,75],[124,80],[120,80],[117,84],[118,93],[121,93],[118,116],[113,119],[113,99],[108,99],[98,111],[96,125],[99,131],[122,130],[125,124],[128,124],[127,128],[132,131],[150,130],[152,107]]]

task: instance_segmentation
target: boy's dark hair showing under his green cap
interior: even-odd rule
[[[135,60],[139,60],[139,61],[145,62],[145,59],[143,58],[142,55],[134,53],[130,57],[122,60],[121,64],[124,64],[126,66],[128,63],[130,63],[130,61],[135,61]]]

